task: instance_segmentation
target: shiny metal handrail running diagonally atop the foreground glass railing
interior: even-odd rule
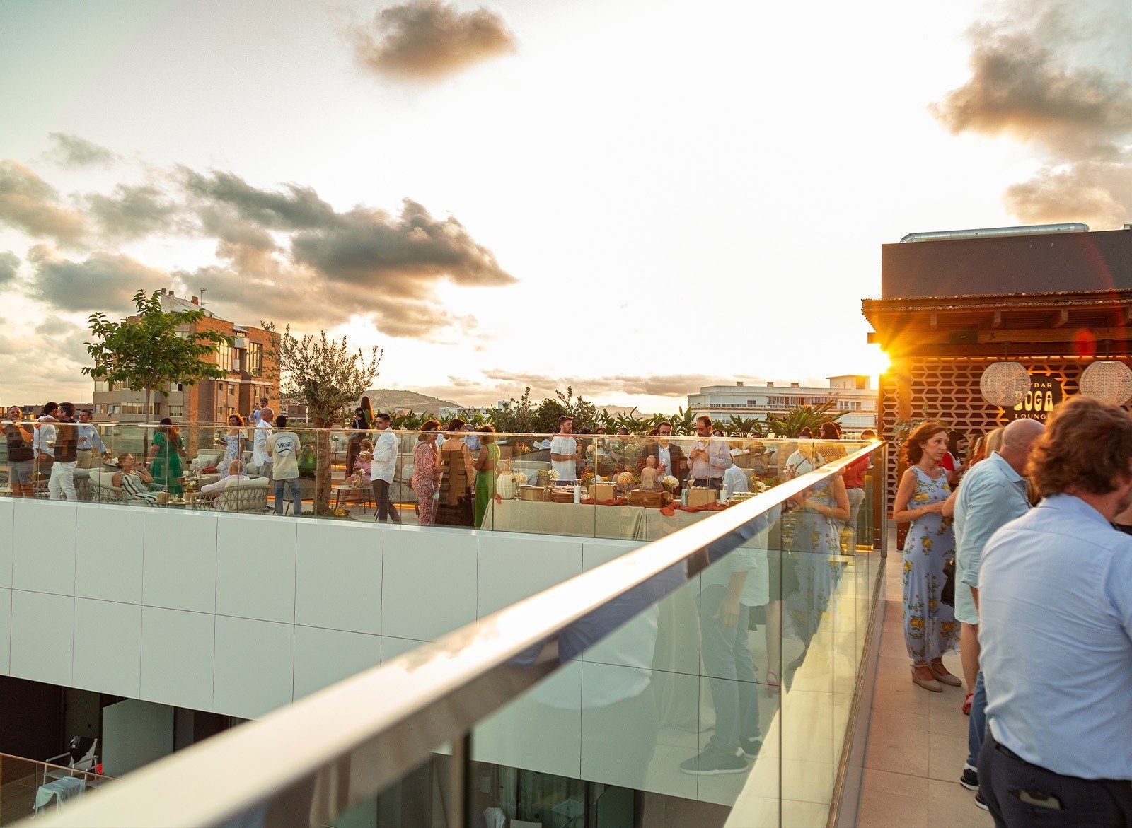
[[[272,809],[271,825],[327,823],[446,742],[453,743],[454,759],[468,758],[465,736],[475,724],[558,666],[542,661],[520,669],[511,663],[515,656],[707,546],[730,552],[747,538],[752,521],[881,446],[873,441],[259,722],[179,751],[40,827],[235,825],[272,802],[278,811]],[[454,784],[458,787],[460,779]],[[453,799],[460,803],[463,792]],[[449,825],[463,826],[466,809],[455,810]],[[258,823],[267,823],[265,814],[258,814]]]

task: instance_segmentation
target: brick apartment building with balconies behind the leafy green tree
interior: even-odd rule
[[[161,291],[162,310],[201,310],[197,296],[182,299],[172,291]],[[271,364],[272,334],[263,328],[240,326],[221,319],[208,309],[204,319],[183,328],[185,333],[216,330],[232,337],[232,344],[222,344],[209,362],[216,362],[228,376],[218,380],[201,380],[195,386],[173,382],[169,396],[154,394],[151,400],[151,422],[172,417],[178,423],[223,423],[230,414],[245,419],[255,402],[266,397],[275,411],[280,407],[278,372]],[[104,381],[94,383],[94,419],[97,422],[146,422],[145,391],[111,387]]]

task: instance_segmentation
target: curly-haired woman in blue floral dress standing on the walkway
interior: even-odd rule
[[[924,423],[904,441],[908,471],[900,478],[892,518],[911,521],[904,537],[904,644],[912,659],[912,682],[941,692],[941,684],[962,682],[943,666],[943,654],[959,641],[954,610],[942,601],[943,567],[955,554],[947,498],[947,472],[940,462],[947,452],[947,429]]]

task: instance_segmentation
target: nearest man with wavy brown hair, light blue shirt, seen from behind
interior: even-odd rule
[[[979,793],[997,826],[1132,825],[1132,419],[1073,397],[1029,469],[1044,500],[979,571]]]

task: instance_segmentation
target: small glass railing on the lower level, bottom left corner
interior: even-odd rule
[[[71,805],[110,777],[0,753],[0,826]]]

